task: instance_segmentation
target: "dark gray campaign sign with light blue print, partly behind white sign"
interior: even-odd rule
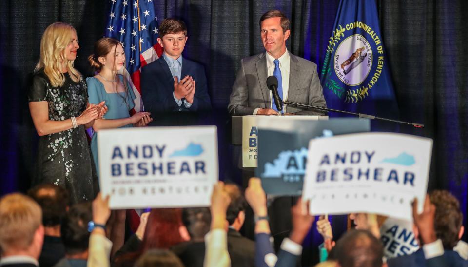
[[[311,139],[369,130],[368,119],[356,118],[281,122],[273,118],[268,124],[259,123],[258,167],[255,175],[260,177],[263,189],[269,195],[299,196],[302,194]]]

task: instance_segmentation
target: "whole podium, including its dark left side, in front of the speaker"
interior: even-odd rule
[[[297,116],[233,116],[231,143],[242,146],[241,168],[256,168],[258,157],[258,128],[281,130],[288,121],[318,121],[328,120],[328,116],[297,115]]]

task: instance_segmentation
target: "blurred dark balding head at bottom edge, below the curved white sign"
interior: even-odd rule
[[[351,230],[338,240],[331,260],[338,267],[382,267],[382,242],[366,230]]]

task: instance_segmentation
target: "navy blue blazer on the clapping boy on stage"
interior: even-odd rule
[[[195,97],[190,108],[180,107],[174,100],[174,77],[163,57],[141,68],[141,97],[145,111],[151,113],[210,110],[210,96],[202,65],[182,58],[181,78],[186,75],[195,80]]]

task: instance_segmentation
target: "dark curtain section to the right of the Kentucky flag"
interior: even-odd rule
[[[434,140],[429,190],[447,189],[460,201],[467,228],[468,28],[463,0],[381,1],[379,17],[404,121]],[[465,233],[464,239],[467,240]]]

